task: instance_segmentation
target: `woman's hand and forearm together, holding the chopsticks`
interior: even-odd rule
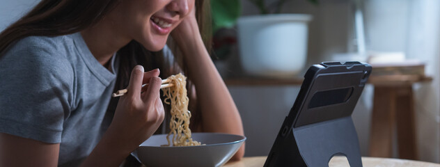
[[[120,97],[109,129],[83,166],[118,166],[156,131],[164,120],[164,106],[159,98],[162,80],[158,76],[158,69],[143,72],[141,65],[134,67],[128,92]],[[141,93],[145,83],[149,83],[148,88]]]

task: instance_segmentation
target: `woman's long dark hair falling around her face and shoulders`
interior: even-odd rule
[[[116,8],[121,0],[42,0],[24,17],[11,24],[0,33],[0,58],[8,47],[15,42],[28,36],[57,36],[77,33],[90,26],[93,26],[107,15],[111,10]],[[205,47],[211,49],[211,20],[210,20],[210,1],[196,0],[196,17],[201,31]],[[178,48],[175,48],[178,49]],[[176,51],[179,53],[179,51]],[[115,90],[126,88],[129,81],[130,72],[135,65],[143,65],[146,70],[159,68],[162,78],[168,77],[170,74],[178,73],[176,69],[186,71],[184,62],[170,63],[166,62],[161,51],[152,52],[145,49],[139,42],[132,41],[128,45],[118,51],[120,56],[120,65],[118,70],[118,78],[116,79]],[[180,56],[180,54],[175,54]],[[175,58],[177,60],[179,58]],[[170,67],[170,64],[179,65],[180,68]],[[191,83],[191,82],[189,82]],[[189,92],[191,92],[191,84],[188,84]],[[108,112],[112,113],[116,109],[117,98],[112,99],[109,104]],[[198,111],[194,97],[190,97],[190,111],[195,113]],[[196,109],[191,109],[196,107]],[[196,116],[196,114],[193,114]],[[198,124],[200,116],[191,118],[191,127]]]

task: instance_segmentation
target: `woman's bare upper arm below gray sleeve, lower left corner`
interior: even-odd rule
[[[0,133],[0,166],[57,166],[60,144]]]

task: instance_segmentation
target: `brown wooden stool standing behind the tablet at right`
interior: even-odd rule
[[[418,75],[370,77],[370,84],[375,86],[370,129],[371,157],[393,157],[393,134],[396,132],[398,157],[418,159],[412,85],[431,80],[431,77]]]

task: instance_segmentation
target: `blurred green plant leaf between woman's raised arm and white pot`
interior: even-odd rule
[[[235,22],[242,14],[242,5],[239,0],[211,0],[212,32],[221,28],[235,26]]]

